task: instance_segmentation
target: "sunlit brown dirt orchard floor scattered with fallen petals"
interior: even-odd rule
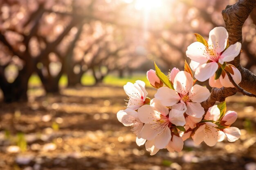
[[[155,89],[147,90],[153,98]],[[209,147],[187,140],[181,153],[150,156],[116,118],[125,109],[122,87],[43,94],[34,88],[28,103],[0,103],[1,170],[256,170],[255,98],[227,98],[227,110],[238,112],[238,141]]]

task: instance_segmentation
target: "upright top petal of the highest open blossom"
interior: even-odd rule
[[[222,52],[227,46],[228,37],[229,34],[227,33],[226,28],[222,26],[213,28],[209,33],[209,48],[211,47],[220,54],[220,52]]]

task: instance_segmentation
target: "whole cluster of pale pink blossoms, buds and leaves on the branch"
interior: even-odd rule
[[[195,80],[185,61],[184,71],[173,68],[168,76],[157,65],[155,70],[147,72],[148,81],[157,88],[153,99],[147,97],[143,81],[124,85],[129,100],[127,108],[119,111],[117,118],[124,126],[130,126],[137,136],[137,145],[145,144],[150,155],[163,148],[180,152],[184,140],[190,137],[195,144],[204,141],[208,146],[214,146],[225,136],[229,142],[240,137],[239,129],[230,127],[236,121],[237,113],[226,112],[225,102],[204,111],[200,103],[209,98],[210,92],[207,87],[195,84],[196,80],[205,81],[209,78],[212,87],[234,87],[226,72],[231,74],[237,84],[240,83],[239,70],[226,62],[239,54],[241,44],[238,42],[229,46],[227,38],[226,29],[216,27],[210,32],[208,42],[200,37],[202,42],[195,42],[188,47],[186,54],[191,59]]]

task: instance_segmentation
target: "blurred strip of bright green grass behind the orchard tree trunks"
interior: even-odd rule
[[[106,85],[117,85],[117,86],[123,86],[127,82],[135,83],[136,80],[141,80],[146,83],[146,86],[150,87],[150,83],[147,80],[146,74],[134,74],[132,77],[124,77],[124,78],[119,78],[118,76],[115,75],[108,75],[104,78],[103,83]],[[29,85],[32,86],[38,86],[41,85],[40,78],[36,75],[33,74],[29,78]],[[82,85],[93,85],[94,84],[94,78],[91,75],[84,74],[81,78],[81,84]],[[60,86],[66,86],[67,85],[67,75],[61,76],[61,79],[59,81]]]

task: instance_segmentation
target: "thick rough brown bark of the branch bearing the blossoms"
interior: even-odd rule
[[[225,27],[229,33],[229,44],[235,44],[236,42],[243,43],[242,27],[255,6],[256,0],[239,0],[234,5],[228,5],[226,9],[222,11]],[[256,83],[256,76],[240,65],[240,54],[234,61],[229,63],[235,65],[241,72],[242,81],[239,83],[239,86],[247,92],[256,95],[256,88],[252,86],[252,84]],[[206,101],[202,102],[201,105],[204,107],[204,110],[207,111],[216,101],[225,101],[225,98],[236,94],[236,92],[238,92],[236,88],[213,88],[211,96]]]

